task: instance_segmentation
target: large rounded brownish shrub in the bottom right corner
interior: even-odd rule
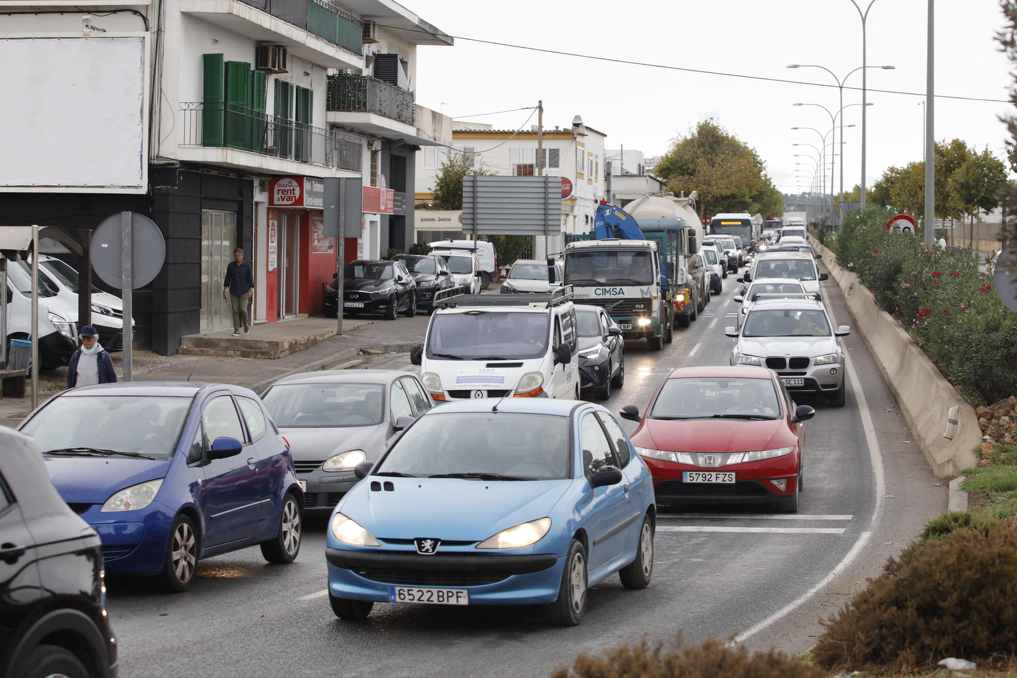
[[[960,526],[948,515],[900,560],[891,558],[833,618],[813,647],[828,669],[911,671],[944,657],[1017,652],[1017,527]]]

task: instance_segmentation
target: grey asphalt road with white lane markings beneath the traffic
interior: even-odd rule
[[[728,363],[731,341],[723,330],[734,324],[731,296],[740,285],[734,276],[724,283],[662,351],[645,341],[625,346],[625,385],[608,407],[636,404],[642,411],[671,368]],[[835,324],[850,323],[836,287],[823,288]],[[611,577],[591,590],[577,628],[550,626],[539,610],[504,607],[379,604],[364,623],[339,621],[326,598],[319,521],[306,525],[291,565],[267,565],[254,548],[199,564],[188,594],[111,581],[121,675],[540,676],[579,652],[638,642],[644,633],[668,639],[679,630],[686,641],[740,634],[753,645],[806,648],[817,619],[946,507],[946,488],[906,442],[911,435],[862,340],[852,335],[845,345],[847,405],[799,400],[818,410],[806,425],[799,513],[662,511],[651,585],[632,591]],[[351,369],[366,366],[415,370],[406,355]],[[623,423],[630,433],[636,427]]]

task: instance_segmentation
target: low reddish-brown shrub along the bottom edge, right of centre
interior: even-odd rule
[[[802,664],[784,653],[771,649],[752,655],[744,646],[732,647],[715,639],[681,646],[681,637],[665,648],[650,645],[644,637],[638,645],[622,643],[602,657],[580,655],[572,669],[557,669],[552,678],[822,678],[826,673]]]

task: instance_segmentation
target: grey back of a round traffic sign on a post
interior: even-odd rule
[[[92,268],[107,285],[123,288],[123,233],[120,213],[103,220],[92,236]],[[136,212],[131,219],[131,287],[144,287],[159,275],[166,259],[166,241],[152,219]]]

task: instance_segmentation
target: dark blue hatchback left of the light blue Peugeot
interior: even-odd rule
[[[303,493],[286,441],[252,391],[145,382],[71,389],[18,429],[103,543],[106,572],[190,587],[201,558],[300,550]]]

